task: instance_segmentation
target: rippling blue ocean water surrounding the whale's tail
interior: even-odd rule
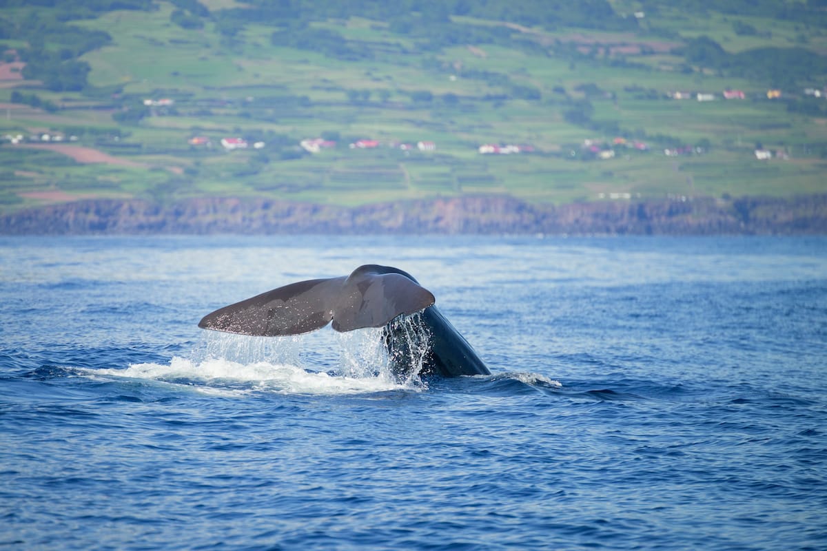
[[[414,274],[490,376],[201,316]],[[2,549],[827,549],[827,239],[0,239]]]

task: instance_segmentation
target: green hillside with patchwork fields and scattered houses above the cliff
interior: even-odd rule
[[[713,3],[4,2],[0,209],[827,191],[827,2]]]

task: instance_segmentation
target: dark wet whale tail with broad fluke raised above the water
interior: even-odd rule
[[[347,276],[290,283],[224,306],[204,316],[198,327],[256,336],[299,335],[328,323],[341,332],[383,327],[385,346],[396,373],[411,368],[411,347],[424,344],[428,350],[420,374],[490,374],[435,302],[433,293],[409,273],[366,264]],[[400,319],[414,315],[424,329],[425,343],[412,343],[409,332],[399,324]]]

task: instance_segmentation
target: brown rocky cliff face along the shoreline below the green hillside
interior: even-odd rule
[[[827,194],[532,205],[446,197],[335,207],[209,197],[69,202],[0,216],[3,235],[93,234],[827,234]]]

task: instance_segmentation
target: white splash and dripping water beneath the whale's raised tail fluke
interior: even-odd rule
[[[346,333],[322,330],[253,337],[206,331],[189,358],[94,369],[89,374],[152,380],[227,396],[418,392],[426,388],[419,374],[429,342],[428,328],[417,314],[400,317],[385,328]]]

